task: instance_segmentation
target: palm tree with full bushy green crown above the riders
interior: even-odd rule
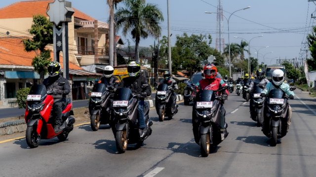
[[[159,22],[163,21],[162,12],[155,4],[145,0],[124,0],[125,7],[118,9],[115,14],[116,29],[122,29],[124,36],[131,32],[135,39],[135,60],[139,62],[140,38],[160,36],[161,28]]]

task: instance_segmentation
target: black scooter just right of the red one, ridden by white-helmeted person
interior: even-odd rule
[[[105,84],[97,83],[93,86],[89,101],[90,124],[93,131],[97,131],[100,124],[110,123],[111,93]]]

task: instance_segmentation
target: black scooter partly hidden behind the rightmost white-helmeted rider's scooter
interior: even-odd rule
[[[250,117],[253,121],[257,122],[257,126],[260,127],[263,122],[264,117],[264,102],[265,97],[261,97],[262,88],[259,87],[259,83],[255,83],[251,92],[250,104]]]

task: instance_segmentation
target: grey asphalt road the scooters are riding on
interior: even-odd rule
[[[92,132],[90,125],[75,127],[68,140],[42,140],[28,148],[25,139],[0,144],[1,177],[312,177],[316,174],[316,106],[298,94],[289,133],[276,147],[249,118],[248,103],[231,94],[225,103],[227,139],[208,157],[200,157],[194,143],[192,106],[179,106],[171,120],[158,121],[144,146],[116,151],[111,129]],[[307,108],[308,107],[308,108]],[[314,174],[314,175],[313,175]]]

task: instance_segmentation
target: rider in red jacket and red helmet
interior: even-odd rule
[[[209,90],[218,90],[224,86],[226,86],[225,82],[222,80],[222,79],[219,79],[219,78],[216,78],[216,73],[217,73],[217,68],[214,64],[206,64],[204,66],[204,70],[203,70],[203,73],[204,73],[204,77],[205,79],[202,79],[199,81],[199,86],[198,86],[198,90],[200,89],[209,89]],[[220,93],[219,93],[220,94]],[[228,90],[225,89],[222,91],[222,96],[223,96],[223,99],[227,99],[228,97]],[[221,126],[221,134],[222,134],[222,137],[226,138],[227,135],[228,135],[228,132],[226,130],[226,127],[225,127],[225,109],[224,109],[224,106],[221,107],[222,109],[220,110],[220,113],[221,114],[221,123],[220,123],[220,126]],[[193,107],[193,109],[195,109],[195,107]],[[194,113],[194,110],[193,112]],[[199,127],[199,123],[198,123],[198,120],[195,118],[194,114],[192,116],[192,125],[193,125],[193,134],[194,134],[194,137],[195,137],[195,140],[198,140],[198,127]],[[196,142],[197,144],[199,144],[199,142]]]

